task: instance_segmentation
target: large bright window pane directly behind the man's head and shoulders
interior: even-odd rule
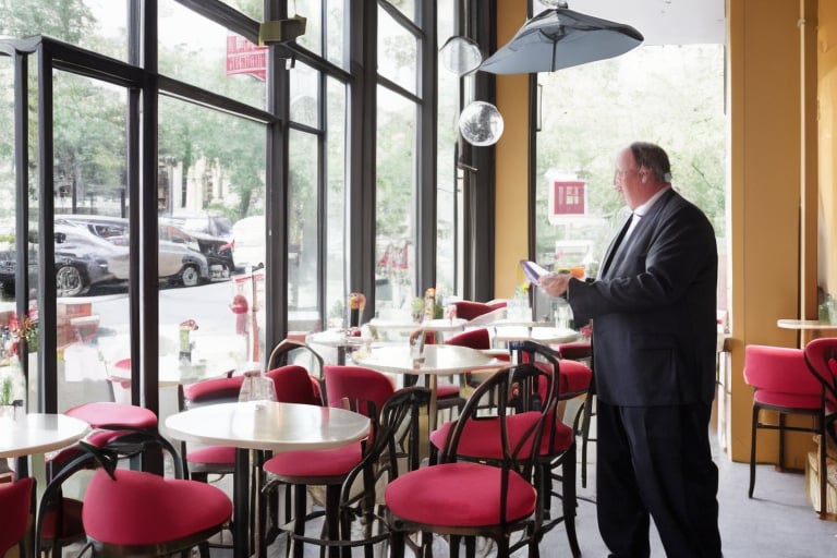
[[[669,154],[674,186],[715,227],[718,307],[726,307],[723,45],[647,46],[541,73],[538,95],[537,260],[584,265],[595,275],[627,218],[614,190],[616,154],[633,141],[651,141]]]

